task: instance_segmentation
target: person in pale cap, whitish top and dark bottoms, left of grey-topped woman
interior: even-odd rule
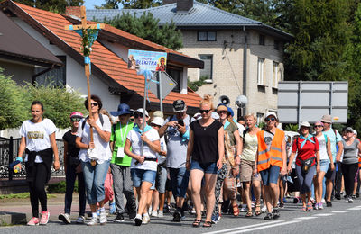
[[[340,159],[343,152],[343,145],[342,145],[342,137],[339,135],[338,130],[332,129],[332,117],[329,114],[325,114],[322,116],[321,122],[323,123],[323,133],[329,137],[329,141],[331,143],[331,153],[334,166],[329,166],[329,170],[326,173],[326,206],[332,207],[331,202],[331,194],[333,190],[334,183],[336,182],[336,193],[335,197],[340,199],[339,190],[341,189],[341,164]],[[338,145],[338,150],[336,148]],[[338,178],[335,181],[336,177],[336,163],[338,164]]]

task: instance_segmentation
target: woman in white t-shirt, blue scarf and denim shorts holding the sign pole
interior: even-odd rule
[[[147,207],[148,195],[150,194],[148,192],[155,183],[158,167],[157,153],[161,151],[158,131],[146,123],[144,130],[142,129],[143,114],[145,114],[146,120],[148,120],[148,112],[142,108],[134,112],[134,123],[136,126],[134,126],[133,130],[129,131],[125,141],[125,154],[132,157],[130,173],[139,200],[138,211],[134,219],[136,226],[140,226],[142,223],[146,224],[150,221]],[[142,141],[143,154],[141,152]],[[130,148],[132,148],[132,151]]]

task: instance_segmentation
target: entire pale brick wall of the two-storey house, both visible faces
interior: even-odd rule
[[[221,95],[230,99],[230,107],[236,113],[236,97],[243,94],[243,67],[245,35],[241,30],[218,30],[217,41],[197,41],[197,30],[183,30],[183,48],[180,49],[190,57],[199,58],[200,54],[213,55],[213,79],[207,85],[199,87],[197,93],[211,94],[218,104]],[[247,82],[246,112],[265,113],[277,109],[277,88],[273,85],[273,61],[279,63],[283,74],[282,45],[273,48],[274,39],[265,35],[265,45],[259,44],[259,32],[247,31]],[[265,85],[257,85],[258,58],[264,58]],[[189,69],[190,81],[199,80],[199,69]]]

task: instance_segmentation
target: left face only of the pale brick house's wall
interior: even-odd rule
[[[198,41],[197,30],[183,30],[181,52],[193,58],[213,55],[212,82],[199,87],[197,94],[211,94],[218,104],[221,95],[227,95],[236,111],[236,97],[242,94],[244,34],[240,30],[218,30],[217,41]],[[199,69],[189,69],[190,81],[199,79]]]

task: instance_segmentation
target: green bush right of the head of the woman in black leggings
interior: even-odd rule
[[[44,117],[51,119],[60,129],[69,127],[71,112],[87,112],[84,98],[79,93],[69,92],[60,86],[27,84],[23,86],[23,94],[24,100],[27,100],[27,108],[30,108],[32,101],[41,101],[44,105]]]

